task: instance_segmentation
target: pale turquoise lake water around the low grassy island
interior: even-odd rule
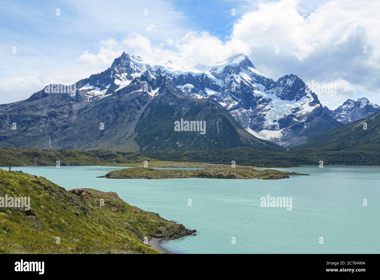
[[[131,205],[196,229],[196,236],[160,243],[174,253],[380,253],[379,166],[294,167],[280,170],[311,176],[281,180],[96,178],[121,168],[12,170],[65,189],[114,191]],[[260,207],[267,195],[292,197],[292,209]]]

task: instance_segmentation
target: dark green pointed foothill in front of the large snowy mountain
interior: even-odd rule
[[[169,89],[166,89],[168,91]],[[174,91],[178,92],[177,88]],[[162,93],[161,93],[162,94]],[[160,94],[160,95],[161,95]],[[167,94],[168,95],[168,94]],[[187,100],[184,108],[177,108],[165,100],[142,115],[136,125],[135,141],[141,151],[209,150],[233,147],[254,147],[262,150],[284,150],[274,143],[260,140],[245,131],[220,104],[212,99]],[[154,102],[154,101],[152,101]],[[177,102],[173,102],[177,103]],[[153,103],[152,103],[153,104]],[[152,105],[153,106],[153,105]],[[205,134],[199,131],[174,131],[174,121],[204,120]]]

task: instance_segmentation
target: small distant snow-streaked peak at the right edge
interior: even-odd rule
[[[326,106],[323,108],[332,118],[343,124],[363,119],[380,110],[377,104],[371,103],[366,97],[359,98],[357,101],[347,99],[335,110],[329,110]]]

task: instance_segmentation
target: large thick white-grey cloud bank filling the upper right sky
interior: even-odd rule
[[[307,15],[299,1],[260,3],[234,24],[231,40],[248,44],[256,68],[275,79],[294,73],[307,82],[337,83],[334,101],[320,97],[332,104],[358,89],[378,93],[379,14],[380,3],[370,1],[332,0]]]

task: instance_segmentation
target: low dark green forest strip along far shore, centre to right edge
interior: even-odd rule
[[[255,167],[294,167],[318,165],[319,161],[332,165],[380,165],[378,145],[368,149],[325,150],[323,147],[295,147],[289,151],[273,152],[252,148],[233,148],[208,151],[185,151],[182,153],[149,153],[149,157],[160,160],[204,162]]]

